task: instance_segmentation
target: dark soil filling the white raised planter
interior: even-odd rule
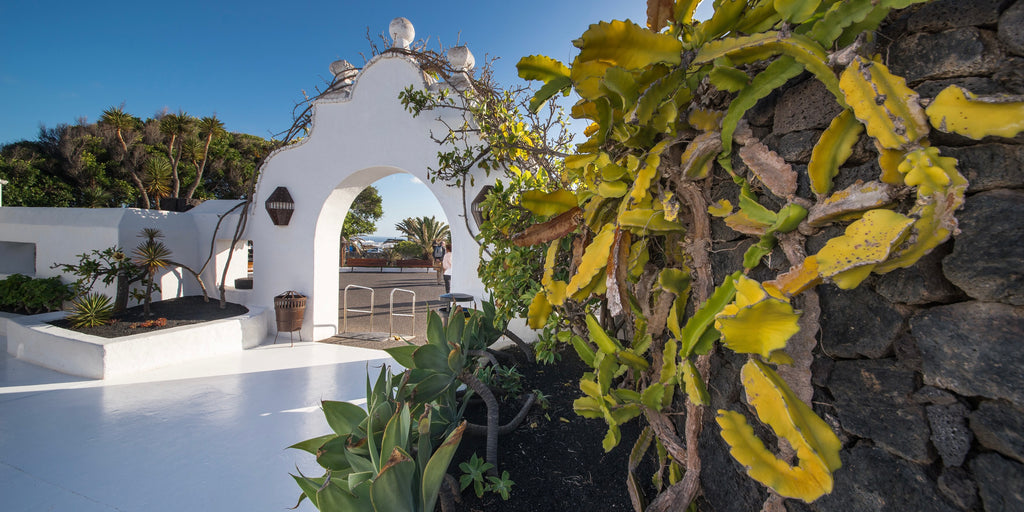
[[[220,318],[229,318],[249,312],[249,309],[240,304],[228,302],[226,307],[220,308],[220,301],[211,298],[209,302],[203,300],[201,296],[180,297],[177,299],[162,300],[150,305],[151,314],[146,315],[143,306],[138,305],[125,309],[121,314],[115,315],[114,324],[106,326],[73,328],[67,319],[50,322],[50,325],[77,331],[92,336],[103,338],[120,338],[133,334],[148,333],[161,329],[172,327],[188,326],[201,324]],[[156,321],[156,324],[163,324],[161,318],[166,318],[166,325],[143,327],[146,321]]]

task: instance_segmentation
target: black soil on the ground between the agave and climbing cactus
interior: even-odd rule
[[[521,352],[507,352],[518,359],[523,374],[523,390],[541,390],[549,406],[534,406],[525,421],[512,433],[498,440],[499,472],[508,471],[515,482],[508,501],[485,493],[478,499],[472,485],[461,495],[455,510],[466,512],[544,512],[567,510],[632,511],[626,489],[627,458],[639,435],[636,420],[623,425],[622,442],[610,453],[601,447],[607,425],[588,420],[572,411],[572,400],[583,395],[580,377],[590,370],[571,349],[563,350],[556,365],[527,362]],[[503,400],[501,424],[515,417],[519,399]],[[471,404],[466,419],[483,425],[482,402]],[[459,446],[449,473],[462,475],[459,463],[475,453],[483,458],[485,439],[467,435]],[[649,475],[650,472],[645,474]]]

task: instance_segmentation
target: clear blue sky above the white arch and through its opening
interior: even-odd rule
[[[710,3],[710,2],[706,2]],[[432,48],[466,44],[496,62],[502,84],[536,53],[568,62],[591,24],[646,20],[644,0],[178,2],[23,0],[0,3],[0,144],[35,139],[40,125],[95,121],[124,103],[140,118],[183,110],[216,115],[232,132],[270,137],[291,124],[302,91],[314,93],[344,58],[357,67],[390,20],[404,16]],[[361,53],[361,55],[360,55]],[[378,234],[409,216],[442,217],[408,176],[378,182]],[[398,198],[423,197],[423,204]],[[391,201],[389,201],[389,199]]]

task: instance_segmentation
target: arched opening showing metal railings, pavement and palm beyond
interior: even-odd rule
[[[375,201],[370,187],[381,215],[368,228],[366,213],[374,211]],[[338,229],[333,341],[372,348],[398,346],[404,339],[426,342],[428,312],[446,304],[440,298],[443,254],[435,249],[451,247],[449,216],[431,188],[412,174],[394,172],[361,185]]]

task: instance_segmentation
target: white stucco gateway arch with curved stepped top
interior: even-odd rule
[[[446,87],[433,83],[410,57],[384,53],[373,58],[346,91],[318,99],[306,138],[279,150],[264,164],[247,234],[254,244],[251,302],[273,307],[273,297],[294,290],[306,295],[301,336],[323,339],[338,331],[339,233],[345,214],[366,186],[385,176],[409,173],[423,181],[440,203],[452,229],[452,289],[482,299],[476,274],[478,246],[464,218],[471,201],[493,183],[473,169],[464,191],[431,183],[427,168],[436,165],[437,143],[431,133],[446,133],[439,116],[457,123],[458,113],[431,112],[414,118],[398,100],[408,86]],[[295,210],[288,225],[273,225],[264,203],[278,187],[292,197]],[[473,225],[475,229],[475,225]],[[268,318],[270,332],[276,325]]]

